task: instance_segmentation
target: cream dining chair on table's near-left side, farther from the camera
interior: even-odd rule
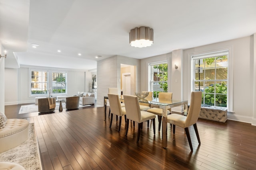
[[[108,94],[108,101],[111,109],[111,118],[110,118],[110,125],[112,125],[112,120],[113,120],[113,114],[119,116],[119,127],[118,127],[118,132],[120,131],[121,127],[121,122],[122,122],[122,115],[124,115],[124,119],[126,122],[126,111],[125,107],[121,107],[121,103],[119,100],[118,94]]]

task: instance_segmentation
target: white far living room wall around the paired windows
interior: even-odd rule
[[[34,67],[36,68],[36,67]],[[40,67],[42,68],[42,67]],[[38,68],[38,69],[40,69]],[[56,68],[45,68],[56,70]],[[62,69],[63,70],[63,69]],[[73,96],[77,92],[85,92],[86,82],[86,72],[82,70],[66,70],[67,72],[67,94],[66,96]],[[34,103],[35,97],[29,96],[29,68],[21,67],[18,69],[5,68],[5,105],[11,104],[24,104],[24,103]],[[90,74],[88,75],[90,78]],[[90,78],[91,79],[91,78]],[[61,95],[59,95],[61,96]]]

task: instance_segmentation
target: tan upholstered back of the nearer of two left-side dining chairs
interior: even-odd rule
[[[140,104],[137,96],[124,95],[127,119],[141,123]]]

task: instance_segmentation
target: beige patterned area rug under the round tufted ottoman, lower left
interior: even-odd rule
[[[18,147],[0,153],[0,162],[20,164],[26,170],[42,170],[34,123],[29,124],[29,139]]]

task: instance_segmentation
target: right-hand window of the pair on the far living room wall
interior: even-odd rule
[[[52,93],[66,93],[66,72],[52,72]]]

